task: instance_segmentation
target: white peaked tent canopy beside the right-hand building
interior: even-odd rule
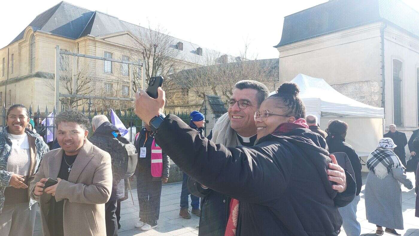
[[[298,74],[292,83],[300,87],[300,98],[308,114],[329,112],[357,117],[384,118],[384,109],[363,104],[339,93],[321,78]],[[269,95],[276,93],[273,91]]]

